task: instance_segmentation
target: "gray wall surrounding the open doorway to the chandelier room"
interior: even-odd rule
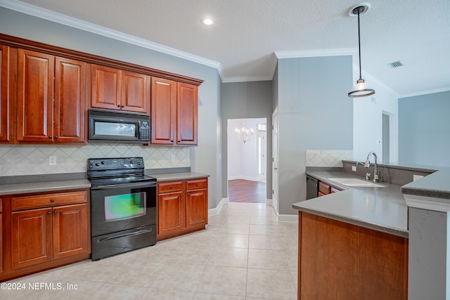
[[[227,190],[227,120],[245,118],[267,119],[267,198],[272,190],[272,81],[233,82],[221,85],[222,118],[222,195],[228,197]],[[234,134],[234,133],[231,133]]]

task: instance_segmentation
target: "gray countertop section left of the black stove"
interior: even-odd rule
[[[75,190],[78,188],[91,188],[91,183],[87,179],[75,179],[65,181],[0,184],[0,196],[53,192],[58,190]]]

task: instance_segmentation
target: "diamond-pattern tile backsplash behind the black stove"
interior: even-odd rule
[[[56,165],[49,165],[49,157]],[[88,158],[143,157],[146,169],[190,167],[189,147],[131,144],[0,145],[1,176],[86,172]]]

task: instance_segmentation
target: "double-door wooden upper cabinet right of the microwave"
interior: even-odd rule
[[[152,77],[151,144],[197,145],[198,87]]]

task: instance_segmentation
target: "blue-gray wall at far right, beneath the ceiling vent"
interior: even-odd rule
[[[450,167],[450,91],[399,99],[399,163]]]

